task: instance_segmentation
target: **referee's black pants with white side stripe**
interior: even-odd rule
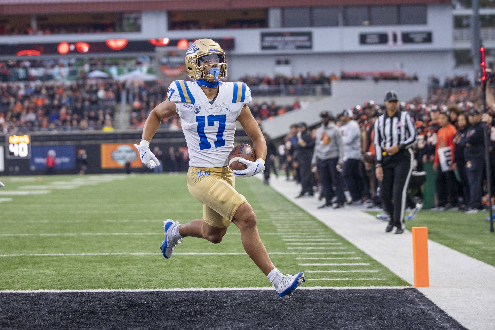
[[[412,173],[412,162],[411,149],[399,151],[398,154],[382,162],[384,165],[383,180],[380,183],[380,199],[383,208],[390,214],[389,225],[396,228],[404,228],[404,208]]]

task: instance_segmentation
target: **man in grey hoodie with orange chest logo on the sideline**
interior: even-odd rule
[[[322,197],[325,204],[318,208],[332,206],[332,198],[337,197],[334,208],[344,206],[346,197],[344,195],[344,182],[339,169],[343,168],[344,144],[342,143],[339,128],[332,123],[335,120],[327,111],[320,113],[321,127],[316,131],[315,146],[312,167],[316,166],[320,184],[322,186]],[[334,191],[335,188],[335,191]]]

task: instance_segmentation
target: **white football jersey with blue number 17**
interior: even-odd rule
[[[234,147],[237,117],[251,101],[251,91],[242,82],[220,82],[213,104],[196,81],[176,80],[167,98],[177,106],[182,131],[189,148],[189,165],[221,167]]]

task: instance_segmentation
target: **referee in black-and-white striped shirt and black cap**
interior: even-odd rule
[[[380,181],[380,199],[390,214],[386,232],[396,227],[396,234],[404,232],[404,205],[413,152],[416,125],[407,111],[397,109],[397,93],[385,93],[387,112],[375,121],[376,177]]]

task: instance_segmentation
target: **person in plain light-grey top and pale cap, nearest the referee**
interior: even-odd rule
[[[346,109],[339,116],[343,125],[340,128],[342,141],[344,142],[344,181],[352,196],[348,205],[362,203],[363,181],[359,174],[359,162],[361,161],[361,129],[353,120],[354,113]]]

